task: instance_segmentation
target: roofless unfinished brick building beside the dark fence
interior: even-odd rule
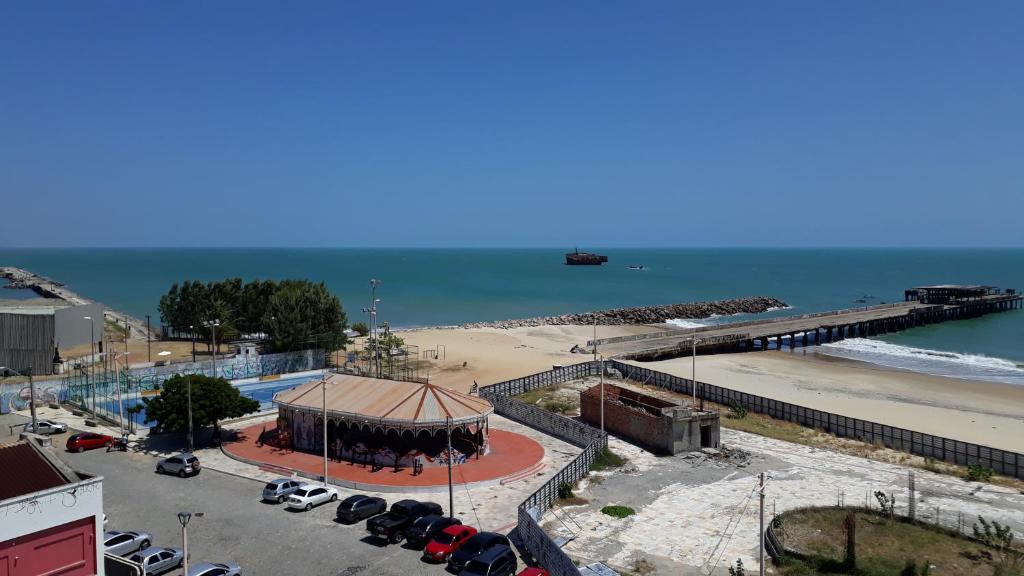
[[[584,420],[600,425],[601,384],[580,394],[580,409]],[[604,429],[663,454],[718,448],[720,442],[717,412],[692,410],[609,383],[604,384]]]

